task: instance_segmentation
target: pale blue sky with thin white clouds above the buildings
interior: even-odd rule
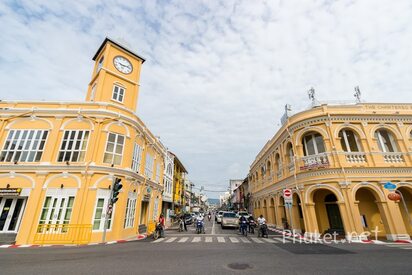
[[[106,36],[145,57],[137,114],[206,190],[245,178],[311,87],[412,101],[410,0],[3,0],[0,27],[2,100],[83,101]]]

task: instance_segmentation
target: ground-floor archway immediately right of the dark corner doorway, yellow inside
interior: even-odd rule
[[[370,232],[374,238],[377,230],[378,238],[386,238],[387,223],[381,215],[382,205],[378,202],[378,195],[370,188],[363,187],[356,191],[355,199],[358,201],[364,231]]]

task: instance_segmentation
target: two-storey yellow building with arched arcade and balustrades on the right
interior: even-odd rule
[[[388,182],[404,201],[388,199]],[[324,104],[286,116],[252,163],[249,185],[254,214],[279,228],[410,239],[412,104]]]

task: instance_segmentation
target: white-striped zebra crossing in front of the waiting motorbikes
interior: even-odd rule
[[[165,237],[151,243],[258,243],[258,244],[282,244],[291,243],[291,240],[283,238],[256,238],[256,237],[233,237],[233,236],[206,236],[206,237]]]

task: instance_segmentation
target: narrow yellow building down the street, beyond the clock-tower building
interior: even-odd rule
[[[174,156],[174,172],[173,172],[173,210],[175,214],[180,214],[185,211],[185,178],[187,174],[186,168],[175,155]]]

